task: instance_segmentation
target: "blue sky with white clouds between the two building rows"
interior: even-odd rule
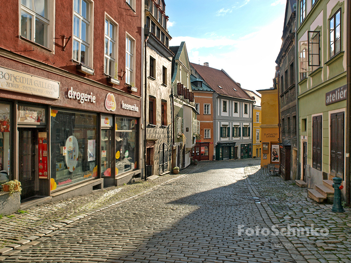
[[[273,86],[286,0],[165,0],[170,46],[185,41],[189,61],[223,69],[241,87]]]

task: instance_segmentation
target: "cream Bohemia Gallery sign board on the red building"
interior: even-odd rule
[[[0,67],[0,89],[59,99],[58,81]]]

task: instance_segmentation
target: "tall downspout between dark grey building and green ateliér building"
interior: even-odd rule
[[[296,6],[295,6],[296,8]],[[298,107],[298,43],[297,43],[297,18],[296,18],[296,9],[295,9],[295,92],[296,92],[296,145],[297,145],[297,167],[296,167],[296,179],[301,180],[300,173],[300,130],[299,130],[299,107]]]

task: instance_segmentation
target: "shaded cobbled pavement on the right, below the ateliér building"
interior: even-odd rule
[[[306,188],[297,187],[293,181],[270,176],[263,169],[255,173],[248,170],[247,174],[254,195],[260,198],[261,203],[257,205],[263,207],[279,230],[288,226],[311,229],[312,225],[318,233],[320,229],[328,229],[327,236],[301,232],[300,235],[286,236],[294,251],[303,255],[308,263],[351,263],[350,209],[346,209],[345,213],[332,213],[331,205],[318,204],[307,198]]]

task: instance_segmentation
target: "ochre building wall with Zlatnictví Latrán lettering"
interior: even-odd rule
[[[278,90],[271,88],[258,90],[261,97],[261,167],[268,164],[279,164],[279,100]]]

